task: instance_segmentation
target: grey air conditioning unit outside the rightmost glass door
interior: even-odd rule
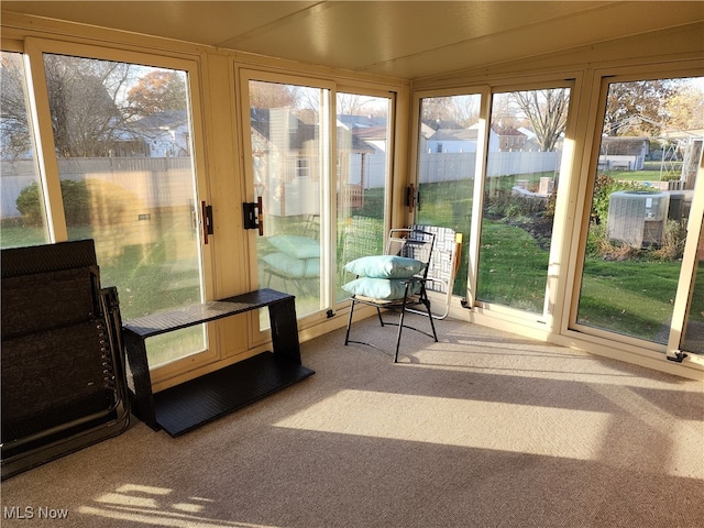
[[[649,190],[619,190],[608,199],[606,237],[632,248],[660,245],[670,195]]]

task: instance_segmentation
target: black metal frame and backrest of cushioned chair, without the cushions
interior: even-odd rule
[[[394,363],[398,362],[398,352],[400,349],[400,339],[403,334],[404,328],[409,330],[414,330],[416,332],[422,333],[424,336],[428,336],[432,338],[435,342],[438,342],[438,334],[436,332],[436,326],[433,322],[432,312],[430,310],[430,299],[428,298],[428,292],[426,289],[426,283],[428,280],[428,270],[432,262],[432,251],[435,246],[436,234],[429,231],[424,231],[420,229],[392,229],[389,232],[389,238],[387,242],[387,254],[399,254],[400,256],[409,256],[414,258],[418,258],[422,253],[422,262],[426,264],[424,270],[414,275],[410,278],[404,280],[404,297],[399,299],[373,299],[370,297],[363,297],[359,295],[352,295],[350,300],[352,304],[350,305],[350,317],[348,319],[348,328],[344,337],[344,344],[349,343],[363,344],[366,346],[372,346],[376,350],[382,349],[376,346],[373,343],[366,341],[356,341],[350,339],[350,331],[352,329],[352,321],[354,316],[354,307],[358,304],[366,305],[374,307],[376,309],[376,315],[378,318],[378,322],[382,327],[394,326],[398,328],[396,334],[396,349],[394,351]],[[394,251],[394,244],[399,244],[399,251]],[[418,258],[420,260],[420,258]],[[415,293],[415,289],[419,288],[418,293]],[[415,309],[413,307],[422,306],[425,309]],[[398,312],[398,322],[389,322],[385,320],[382,316],[382,309],[384,310],[394,310]],[[422,310],[422,311],[421,311]],[[406,314],[413,311],[416,314],[422,314],[428,316],[428,320],[430,321],[430,331],[422,330],[420,328],[410,326],[406,323]]]

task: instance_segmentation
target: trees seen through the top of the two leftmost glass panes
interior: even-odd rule
[[[32,152],[32,136],[21,55],[3,53],[0,73],[2,154],[26,155]],[[147,138],[134,125],[138,118],[183,108],[186,100],[178,73],[140,65],[45,54],[44,73],[54,145],[61,157],[103,157],[125,150],[143,153]]]

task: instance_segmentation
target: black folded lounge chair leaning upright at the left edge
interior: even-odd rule
[[[2,479],[129,424],[117,290],[92,240],[2,250]]]

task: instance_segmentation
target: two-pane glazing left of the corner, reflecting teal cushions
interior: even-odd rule
[[[253,275],[261,287],[294,294],[299,318],[331,310],[348,297],[344,263],[384,248],[392,99],[246,75],[251,185],[261,202]]]

